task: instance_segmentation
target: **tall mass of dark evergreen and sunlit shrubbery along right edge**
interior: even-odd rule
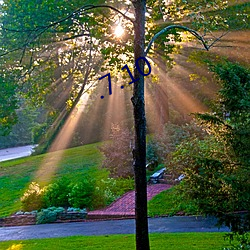
[[[209,136],[183,142],[169,159],[169,169],[175,175],[185,174],[180,192],[187,199],[242,233],[250,224],[250,74],[229,62],[210,68],[222,86],[216,110],[196,115]]]

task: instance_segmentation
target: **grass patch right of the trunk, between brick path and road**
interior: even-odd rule
[[[151,217],[161,215],[174,215],[178,212],[185,214],[198,214],[198,209],[194,204],[188,203],[177,194],[175,187],[153,197],[148,203],[148,214]]]

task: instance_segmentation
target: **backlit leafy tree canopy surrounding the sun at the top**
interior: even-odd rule
[[[82,8],[83,5],[89,7],[89,4],[102,3],[105,1],[89,0],[83,4],[79,0],[70,3],[65,0],[5,0],[0,5],[2,65],[16,69],[15,75],[25,85],[25,88],[20,88],[22,96],[36,106],[45,100],[56,106],[51,100],[59,98],[64,99],[64,104],[72,104],[77,100],[79,90],[85,88],[86,81],[82,79],[88,78],[94,84],[101,67],[117,72],[124,64],[133,65],[133,24],[125,18],[120,19],[116,12],[108,8],[89,11]],[[129,8],[131,1],[110,4],[120,10],[128,8],[128,12],[133,14]],[[228,27],[227,20],[231,15],[233,20],[235,17],[237,20],[246,19],[247,15],[247,7],[226,12],[227,1],[147,1],[147,8],[150,9],[146,26],[147,42],[162,28],[182,20],[207,32]],[[225,14],[222,15],[222,12]],[[238,18],[236,14],[241,12],[244,12],[243,16]],[[126,35],[117,39],[112,35],[111,27],[120,21]],[[155,41],[154,50],[163,51],[163,57],[171,64],[170,54],[179,47],[173,41],[181,40],[180,32],[171,30]],[[88,60],[89,57],[91,60]],[[63,105],[58,106],[61,111]]]

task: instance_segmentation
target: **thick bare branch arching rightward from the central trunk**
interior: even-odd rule
[[[205,47],[206,50],[209,50],[211,45],[208,46],[206,44],[206,41],[204,40],[204,38],[195,30],[193,29],[190,29],[186,26],[182,26],[182,25],[170,25],[170,26],[167,26],[165,27],[164,29],[162,29],[161,31],[159,31],[158,33],[156,33],[153,38],[151,39],[151,41],[149,42],[146,50],[145,50],[145,56],[147,56],[152,44],[154,43],[154,41],[160,36],[162,35],[163,33],[171,30],[171,29],[181,29],[181,30],[185,30],[185,31],[188,31],[189,33],[191,33],[193,36],[195,36],[199,41],[201,41],[201,43],[203,44],[203,46]],[[213,43],[214,44],[214,43]]]

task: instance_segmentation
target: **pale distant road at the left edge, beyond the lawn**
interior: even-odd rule
[[[35,145],[0,149],[0,162],[30,156]]]

